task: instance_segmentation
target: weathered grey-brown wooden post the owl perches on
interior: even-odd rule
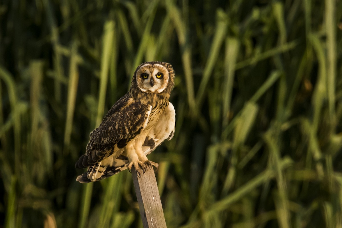
[[[153,168],[146,167],[146,172],[138,177],[134,167],[132,167],[132,177],[144,228],[166,228]]]

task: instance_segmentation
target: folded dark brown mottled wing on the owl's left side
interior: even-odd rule
[[[112,109],[100,126],[90,133],[87,152],[76,162],[76,168],[100,162],[113,153],[115,145],[118,148],[126,146],[145,127],[151,112],[151,106],[139,101],[122,106],[119,110]]]

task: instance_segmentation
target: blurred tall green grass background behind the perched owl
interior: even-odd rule
[[[0,1],[0,227],[142,227],[74,164],[135,68],[176,71],[169,228],[342,228],[342,1]],[[3,225],[1,225],[3,224]]]

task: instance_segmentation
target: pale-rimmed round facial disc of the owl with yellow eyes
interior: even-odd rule
[[[141,91],[159,94],[169,84],[169,70],[162,62],[147,62],[136,70],[135,79]]]

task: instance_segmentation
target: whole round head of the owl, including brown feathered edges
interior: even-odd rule
[[[132,87],[147,94],[170,93],[174,86],[174,71],[167,62],[144,62],[136,68]]]

